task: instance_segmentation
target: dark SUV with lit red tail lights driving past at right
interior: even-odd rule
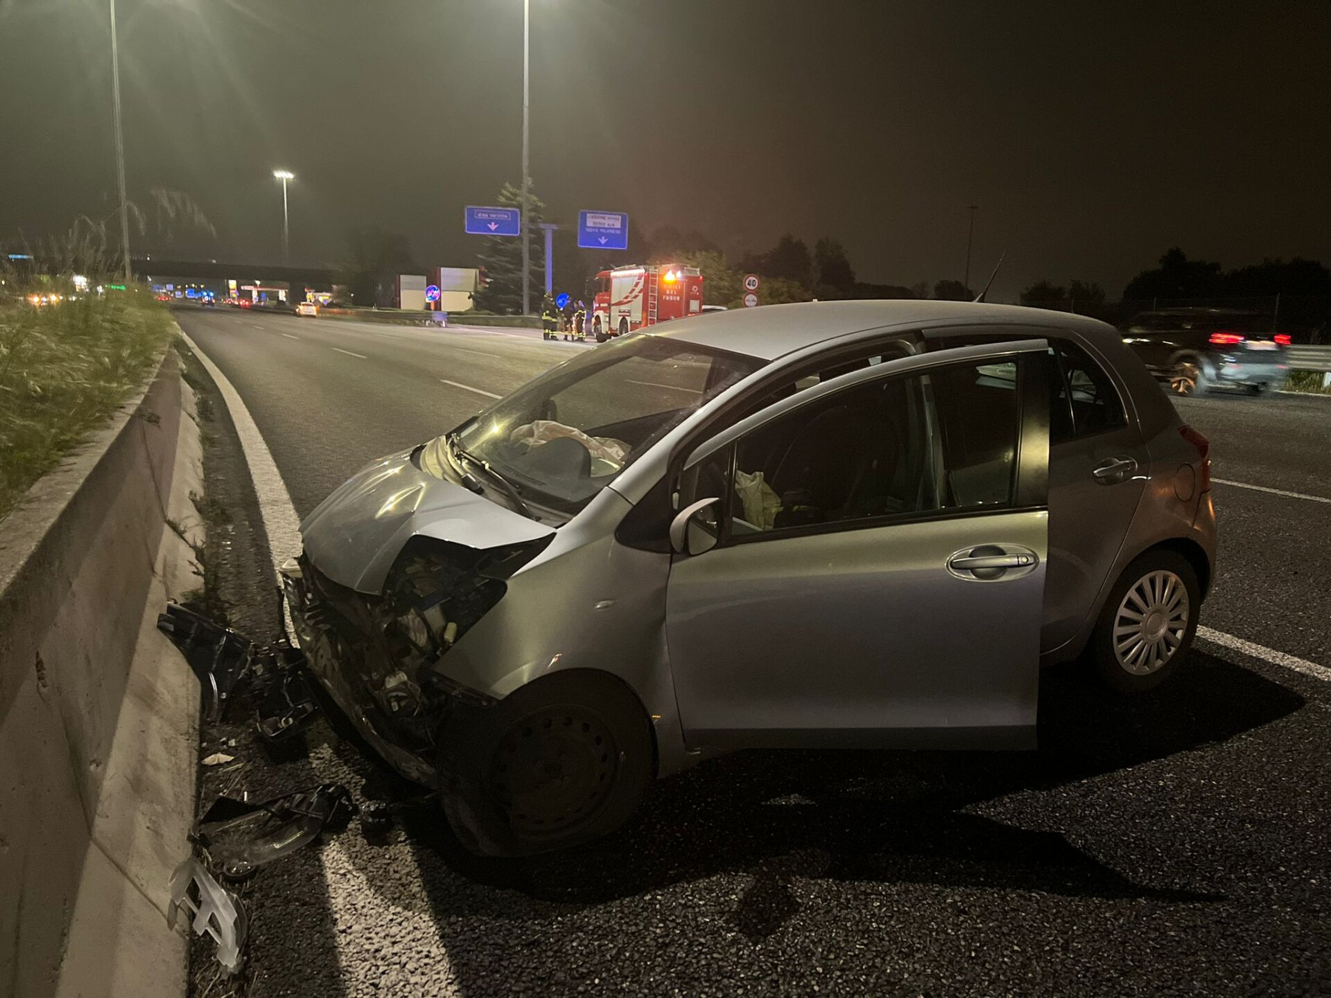
[[[1254,395],[1279,387],[1288,374],[1290,337],[1271,318],[1230,309],[1161,309],[1134,315],[1123,342],[1177,395],[1239,387]]]

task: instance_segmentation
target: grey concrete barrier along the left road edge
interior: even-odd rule
[[[156,615],[194,588],[193,394],[168,350],[0,522],[0,995],[181,995],[198,681]]]

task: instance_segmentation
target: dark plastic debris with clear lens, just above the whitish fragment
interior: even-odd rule
[[[200,820],[197,840],[221,876],[238,881],[309,845],[325,829],[346,828],[354,813],[351,794],[341,784],[323,784],[260,804],[218,797]]]

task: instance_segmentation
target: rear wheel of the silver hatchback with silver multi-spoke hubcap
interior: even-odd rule
[[[1193,647],[1201,605],[1197,572],[1178,552],[1149,551],[1129,564],[1091,635],[1101,679],[1123,693],[1167,680]]]

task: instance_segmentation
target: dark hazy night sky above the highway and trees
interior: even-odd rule
[[[293,258],[350,225],[467,265],[462,206],[520,162],[520,0],[118,0],[130,197]],[[105,0],[0,0],[0,237],[114,205]],[[1170,245],[1331,259],[1331,4],[532,0],[531,174],[556,221],[623,209],[727,250],[840,237],[858,277],[1004,248],[1117,295]],[[624,261],[630,262],[630,261]]]

